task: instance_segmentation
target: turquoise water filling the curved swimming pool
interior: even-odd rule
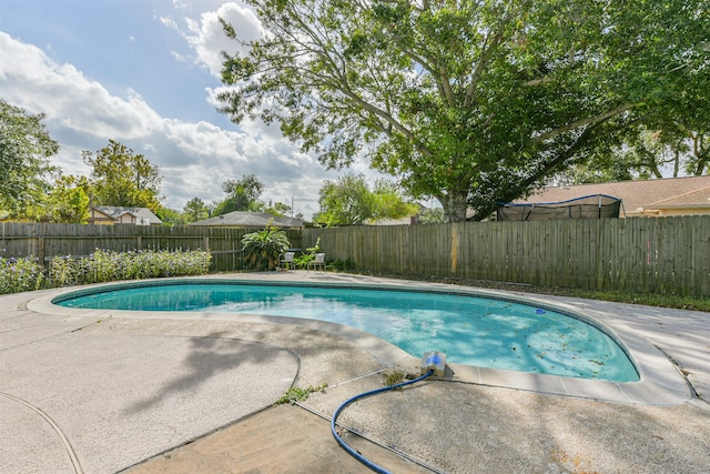
[[[234,283],[113,285],[62,295],[69,307],[265,314],[357,327],[414,356],[562,376],[638,381],[604,331],[549,307],[464,294]]]

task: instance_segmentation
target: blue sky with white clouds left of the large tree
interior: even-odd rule
[[[222,182],[254,174],[262,201],[318,210],[324,180],[379,175],[356,160],[327,171],[277,125],[236,125],[216,108],[221,51],[235,52],[219,18],[240,38],[260,24],[244,3],[216,0],[0,0],[0,99],[43,113],[64,174],[90,173],[81,152],[115,140],[163,177],[163,204],[224,199]]]

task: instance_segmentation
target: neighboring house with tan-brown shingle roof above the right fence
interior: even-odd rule
[[[592,194],[620,199],[620,218],[710,214],[710,177],[550,186],[516,204],[561,202]]]

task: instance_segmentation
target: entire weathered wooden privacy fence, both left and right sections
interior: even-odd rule
[[[213,271],[242,270],[255,229],[0,224],[1,256],[87,256],[97,249],[209,250]],[[710,215],[287,230],[292,248],[321,238],[326,260],[358,270],[474,280],[710,294]]]

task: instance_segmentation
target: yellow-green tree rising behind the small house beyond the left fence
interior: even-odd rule
[[[94,204],[161,208],[158,198],[162,177],[158,167],[115,140],[95,154],[84,151],[84,163],[91,167],[90,193]]]

